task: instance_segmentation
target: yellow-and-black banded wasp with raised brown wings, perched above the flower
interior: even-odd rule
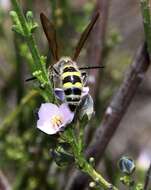
[[[86,87],[87,74],[84,70],[102,68],[101,66],[93,67],[78,67],[77,58],[87,40],[90,32],[92,31],[96,21],[99,18],[97,13],[90,21],[84,32],[82,33],[80,40],[75,48],[73,57],[59,57],[58,43],[56,37],[56,31],[53,23],[44,15],[40,14],[41,24],[43,26],[44,33],[49,43],[49,47],[53,56],[55,64],[50,67],[53,71],[53,76],[59,78],[61,88],[55,88],[55,94],[59,99],[65,100],[72,112],[75,112],[77,106],[80,104],[82,97],[88,94],[89,88]]]

